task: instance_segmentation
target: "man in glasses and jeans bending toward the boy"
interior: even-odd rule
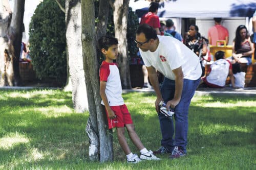
[[[200,82],[202,69],[199,58],[179,40],[169,36],[157,36],[148,25],[140,25],[136,31],[137,47],[156,92],[155,107],[162,133],[161,147],[155,154],[172,153],[170,158],[186,155],[188,131],[188,107]],[[156,69],[164,75],[159,87]],[[159,103],[175,111],[175,138],[173,119],[159,112]]]

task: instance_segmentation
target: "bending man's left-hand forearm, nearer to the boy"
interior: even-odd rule
[[[161,101],[163,101],[163,98],[162,98],[162,94],[161,94],[160,87],[159,87],[157,72],[153,66],[146,67],[146,69],[147,69],[148,77],[150,78],[151,85],[153,86],[153,88],[156,92],[156,95],[157,95],[155,106],[156,106],[156,111],[159,112],[158,105]]]

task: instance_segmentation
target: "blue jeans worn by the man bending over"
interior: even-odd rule
[[[173,119],[166,117],[164,114],[158,113],[160,128],[162,133],[161,145],[172,151],[174,146],[179,146],[186,153],[187,131],[188,131],[188,108],[190,101],[195,94],[197,86],[200,83],[198,80],[183,79],[183,89],[180,103],[175,107],[175,138]],[[164,78],[161,85],[161,94],[164,102],[168,102],[174,98],[175,81]]]

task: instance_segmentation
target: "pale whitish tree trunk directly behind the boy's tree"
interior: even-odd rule
[[[66,0],[66,39],[72,100],[76,112],[88,110],[81,42],[81,1]]]

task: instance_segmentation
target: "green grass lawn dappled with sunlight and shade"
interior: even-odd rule
[[[188,155],[125,163],[114,132],[114,162],[90,162],[85,132],[89,113],[75,113],[71,92],[0,90],[0,169],[256,169],[256,101],[195,96],[189,109]],[[149,150],[161,134],[153,93],[123,98]],[[126,134],[127,136],[127,134]],[[129,145],[139,154],[131,140]]]

